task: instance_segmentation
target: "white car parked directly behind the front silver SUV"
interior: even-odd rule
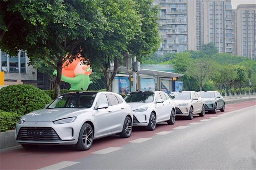
[[[175,123],[175,107],[169,96],[160,91],[130,92],[124,100],[132,107],[133,126],[154,130],[156,123]]]

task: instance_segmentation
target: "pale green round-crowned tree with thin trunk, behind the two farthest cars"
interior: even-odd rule
[[[188,77],[193,77],[199,83],[200,91],[203,90],[203,85],[210,79],[210,75],[214,68],[214,62],[207,58],[194,59],[191,65],[186,70]]]

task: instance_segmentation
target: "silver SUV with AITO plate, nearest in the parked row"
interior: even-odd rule
[[[65,93],[45,109],[23,115],[16,124],[16,141],[26,149],[70,144],[84,151],[94,139],[131,133],[131,107],[113,92]]]

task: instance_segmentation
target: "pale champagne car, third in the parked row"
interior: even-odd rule
[[[169,96],[175,103],[176,116],[186,116],[189,120],[192,120],[195,114],[204,116],[204,102],[197,92],[171,92]]]

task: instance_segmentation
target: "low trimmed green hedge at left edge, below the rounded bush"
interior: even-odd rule
[[[0,132],[15,129],[16,122],[18,122],[20,115],[15,112],[8,112],[0,110]]]

